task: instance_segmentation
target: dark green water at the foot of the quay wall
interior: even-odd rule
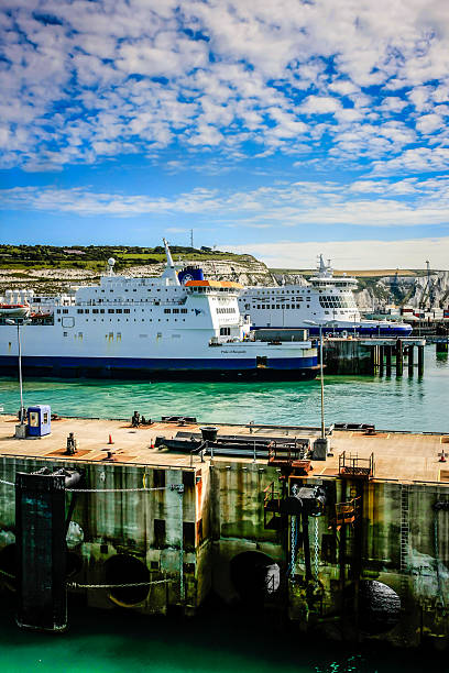
[[[2,610],[2,673],[447,673],[435,651],[399,651],[280,632],[261,617],[143,617],[70,609],[65,633],[25,632]]]

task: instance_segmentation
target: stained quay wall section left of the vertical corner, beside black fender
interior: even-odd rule
[[[105,584],[107,561],[116,554],[125,554],[141,561],[150,570],[151,580],[163,577],[173,580],[168,586],[151,587],[147,598],[134,609],[143,613],[165,613],[169,606],[184,603],[189,606],[189,609],[196,608],[198,599],[205,597],[210,586],[210,564],[205,563],[208,544],[206,539],[201,543],[196,540],[187,547],[185,530],[183,541],[183,525],[193,527],[188,533],[191,533],[193,530],[197,533],[197,521],[205,509],[202,526],[207,533],[208,507],[204,508],[204,503],[207,504],[209,497],[208,470],[205,467],[194,470],[161,467],[156,474],[152,467],[139,465],[80,464],[77,461],[53,462],[3,457],[0,463],[1,478],[14,482],[17,472],[31,473],[43,466],[81,470],[84,473],[81,488],[130,489],[124,493],[119,490],[116,493],[80,493],[77,496],[72,521],[81,528],[83,541],[72,550],[72,553],[79,558],[81,570],[75,577],[70,577],[72,581],[79,584]],[[162,471],[165,489],[132,490],[158,485],[157,477]],[[197,478],[195,478],[195,473]],[[183,482],[184,493],[182,495],[176,488],[171,489],[172,485],[183,485]],[[198,485],[201,485],[202,488],[199,488]],[[67,507],[72,497],[73,494],[67,494]],[[163,544],[157,544],[155,540],[155,519],[165,522]],[[6,484],[0,484],[0,532],[1,569],[2,549],[4,550],[13,541],[15,532],[14,488]],[[182,547],[184,547],[185,600],[182,599],[179,592]],[[198,583],[199,571],[200,581]],[[123,582],[132,582],[132,578],[124,578]],[[89,605],[113,607],[107,589],[89,589],[85,593]]]

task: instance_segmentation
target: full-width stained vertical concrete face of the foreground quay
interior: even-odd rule
[[[34,472],[52,462],[3,456],[0,465],[2,478],[14,482],[17,472]],[[118,604],[145,614],[180,608],[193,614],[211,589],[227,603],[243,598],[236,569],[244,566],[248,572],[248,563],[253,563],[259,572],[261,564],[275,564],[281,576],[277,608],[297,622],[298,631],[354,641],[375,638],[408,647],[426,639],[439,646],[449,642],[449,490],[445,484],[351,479],[337,474],[298,478],[299,486],[320,485],[326,492],[324,515],[309,517],[310,578],[304,531],[297,534],[296,552],[292,548],[292,527],[299,529],[299,518],[287,516],[278,530],[266,528],[265,488],[272,482],[280,487],[278,470],[266,463],[236,459],[201,463],[196,456],[191,468],[69,460],[56,465],[83,470],[85,488],[161,488],[79,494],[72,520],[83,533],[69,545],[78,560],[70,581],[106,584],[114,556],[123,562],[124,584],[135,582],[141,566],[151,581],[172,580],[150,586],[142,599],[132,592],[128,599],[127,594],[114,595],[107,588],[75,588],[88,605],[111,608]],[[13,492],[12,486],[0,484],[4,591],[12,583],[8,573],[13,574],[11,564],[6,564],[6,550],[15,532]],[[67,494],[67,505],[72,496]],[[339,526],[336,505],[351,498],[358,498],[354,521]],[[239,565],[248,552],[247,565]],[[141,565],[128,567],[130,559]],[[374,635],[360,626],[359,600],[360,587],[372,581],[386,585],[401,599],[397,624]],[[265,603],[272,599],[262,596]]]

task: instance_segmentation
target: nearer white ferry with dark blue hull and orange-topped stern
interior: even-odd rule
[[[164,244],[167,262],[158,278],[114,275],[110,260],[98,286],[53,299],[30,293],[30,319],[21,328],[24,373],[315,378],[317,351],[310,341],[253,340],[249,319],[239,311],[242,286],[205,280],[197,268],[177,274]],[[0,367],[3,374],[18,371],[17,328],[1,317]]]

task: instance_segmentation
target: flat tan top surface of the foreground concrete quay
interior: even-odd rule
[[[0,416],[0,456],[45,459],[57,464],[67,462],[105,462],[108,451],[113,451],[113,463],[143,466],[179,467],[190,466],[190,455],[154,449],[156,437],[175,438],[178,431],[199,432],[199,423],[179,426],[176,422],[154,422],[151,426],[132,428],[127,420],[61,418],[52,421],[52,433],[43,438],[14,438],[18,420],[13,416]],[[204,423],[202,423],[204,424]],[[260,437],[283,437],[294,440],[319,435],[318,429],[274,426],[231,426],[215,423],[218,434]],[[78,443],[75,455],[66,454],[66,439],[74,432]],[[109,444],[109,435],[113,444]],[[402,483],[441,483],[449,485],[449,462],[440,462],[440,453],[449,454],[449,434],[377,431],[370,435],[361,431],[333,430],[330,438],[332,455],[326,461],[311,461],[313,477],[332,478],[339,475],[339,456],[346,454],[369,459],[374,454],[377,481]],[[449,459],[449,456],[448,456]],[[207,460],[210,460],[209,457]],[[193,456],[193,465],[200,459]],[[213,461],[226,463],[251,463],[252,459],[238,456],[215,456]],[[258,459],[259,465],[266,460]],[[1,475],[0,475],[1,477]]]

